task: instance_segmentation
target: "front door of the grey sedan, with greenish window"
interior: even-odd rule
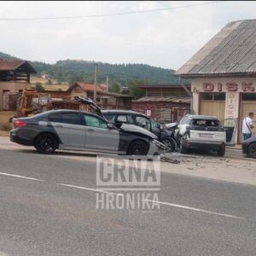
[[[114,152],[119,150],[119,131],[108,129],[108,123],[95,115],[83,114],[86,137],[84,148],[99,152]]]

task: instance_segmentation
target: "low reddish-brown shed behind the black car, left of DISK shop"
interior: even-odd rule
[[[131,109],[161,124],[177,122],[190,111],[190,84],[143,84],[139,88],[146,96],[132,101]]]

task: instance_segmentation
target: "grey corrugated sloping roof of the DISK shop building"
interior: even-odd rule
[[[256,73],[256,20],[232,21],[201,48],[176,74]]]

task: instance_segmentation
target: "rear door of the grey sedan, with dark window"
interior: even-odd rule
[[[79,113],[52,113],[48,120],[61,139],[60,148],[84,148],[86,129]]]

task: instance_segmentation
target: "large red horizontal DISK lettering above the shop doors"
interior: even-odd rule
[[[242,82],[241,84],[237,84],[234,82],[228,82],[228,83],[203,83],[203,91],[230,91],[230,92],[236,92],[238,90],[240,91],[247,91],[247,92],[253,92],[255,90],[253,86],[253,82],[245,83]]]

